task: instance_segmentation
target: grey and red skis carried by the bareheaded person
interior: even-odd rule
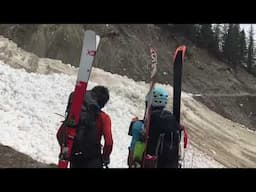
[[[97,45],[96,33],[87,30],[84,33],[83,48],[80,58],[80,65],[72,104],[67,119],[63,122],[63,135],[61,136],[61,149],[59,155],[58,168],[68,168],[74,138],[76,136],[76,126],[79,122],[81,107],[87,90],[87,84],[92,70],[92,64],[96,55]],[[98,36],[99,37],[99,36]]]

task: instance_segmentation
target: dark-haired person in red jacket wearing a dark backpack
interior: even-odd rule
[[[71,108],[73,92],[69,96],[66,116]],[[95,86],[84,97],[76,137],[72,147],[70,168],[103,168],[110,163],[113,147],[110,116],[101,109],[109,100],[104,86]],[[57,138],[60,138],[60,131]],[[104,137],[104,144],[101,139]]]

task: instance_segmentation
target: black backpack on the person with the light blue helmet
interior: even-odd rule
[[[147,153],[157,156],[157,167],[177,167],[180,126],[170,111],[153,110],[151,115]]]

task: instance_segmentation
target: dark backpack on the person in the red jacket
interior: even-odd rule
[[[70,94],[66,109],[67,117],[71,108],[72,95],[73,92]],[[87,91],[81,108],[79,123],[75,125],[76,136],[71,150],[71,159],[77,155],[83,156],[88,160],[100,157],[101,146],[99,141],[97,141],[96,125],[100,112],[100,108],[98,107],[97,102],[92,98],[91,92]],[[59,144],[61,144],[63,137],[65,137],[64,130],[67,126],[66,122],[67,118],[57,132],[57,140]]]

